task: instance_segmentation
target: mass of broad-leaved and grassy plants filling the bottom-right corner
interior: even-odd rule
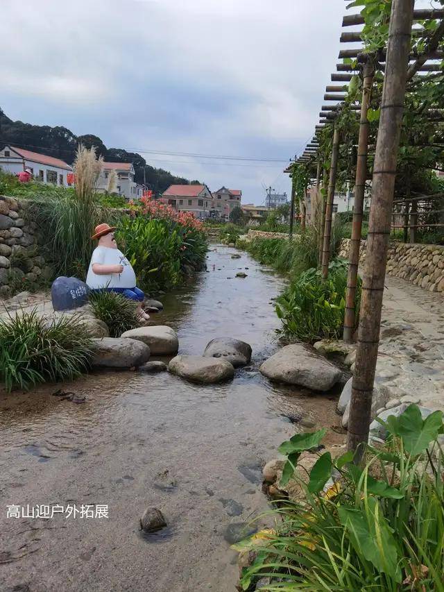
[[[295,468],[325,430],[282,443],[287,462],[280,483],[294,474],[300,500],[275,509],[282,522],[274,532],[234,546],[257,553],[242,571],[241,589],[266,576],[268,591],[444,590],[443,413],[422,420],[410,405],[385,427],[386,443],[366,446],[364,468],[353,464],[352,453],[332,459],[325,452],[306,478]]]

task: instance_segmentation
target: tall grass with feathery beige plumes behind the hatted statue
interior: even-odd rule
[[[48,198],[40,206],[40,226],[59,276],[85,277],[94,248],[92,230],[103,218],[96,198],[102,167],[103,158],[96,158],[94,146],[79,146],[74,162],[75,191]]]

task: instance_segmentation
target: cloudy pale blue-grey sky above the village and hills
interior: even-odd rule
[[[98,135],[215,191],[289,192],[282,159],[311,137],[344,0],[2,0],[0,106]]]

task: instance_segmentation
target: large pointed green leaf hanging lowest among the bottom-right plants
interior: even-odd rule
[[[401,581],[398,568],[398,550],[390,527],[382,515],[375,498],[368,498],[368,511],[341,506],[338,508],[341,524],[350,533],[355,551],[364,555],[379,572],[386,573],[396,582]]]

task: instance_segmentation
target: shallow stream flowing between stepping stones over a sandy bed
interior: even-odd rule
[[[295,432],[340,425],[336,395],[273,385],[257,370],[279,347],[272,298],[284,279],[210,248],[207,272],[162,296],[153,319],[178,332],[179,353],[201,354],[214,337],[247,341],[252,363],[232,382],[105,371],[0,393],[2,591],[234,591],[227,529],[270,509],[262,466]],[[60,386],[85,403],[52,396]],[[327,442],[343,439],[330,430]],[[109,517],[7,518],[10,505],[108,505]],[[142,536],[148,506],[168,526]]]

